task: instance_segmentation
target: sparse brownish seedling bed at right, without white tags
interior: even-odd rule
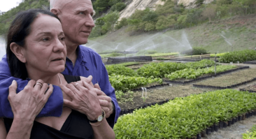
[[[256,69],[246,69],[237,72],[222,75],[220,77],[213,77],[212,79],[204,80],[194,84],[194,87],[199,88],[214,88],[226,89],[236,87],[250,81],[256,80]],[[201,86],[201,87],[200,87]]]

